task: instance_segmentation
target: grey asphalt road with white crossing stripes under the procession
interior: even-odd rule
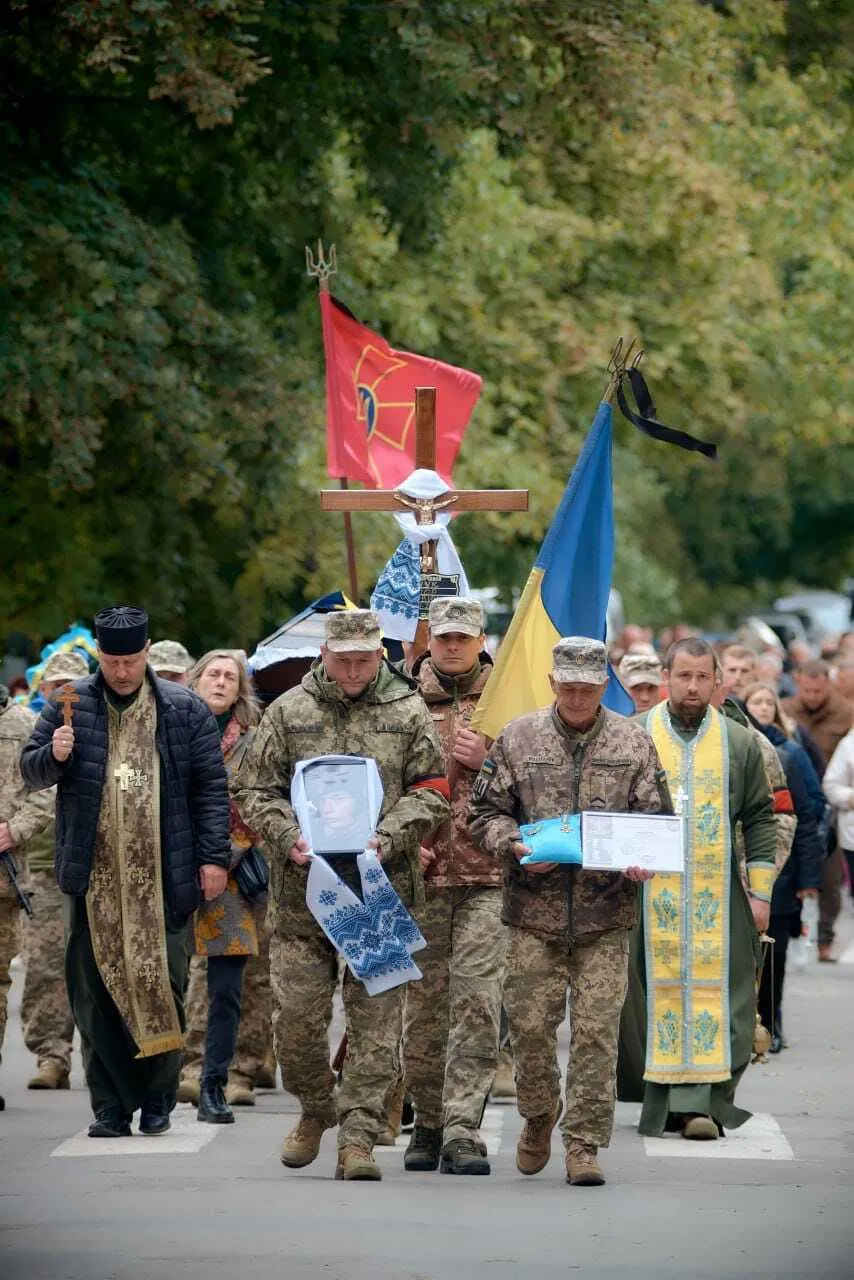
[[[558,1140],[536,1178],[515,1167],[515,1107],[485,1117],[493,1174],[335,1183],[334,1138],[301,1171],[278,1161],[296,1103],[261,1094],[229,1128],[179,1106],[173,1133],[85,1137],[73,1088],[31,1093],[15,974],[0,1115],[1,1280],[745,1280],[854,1275],[854,914],[837,965],[789,982],[790,1047],[752,1066],[754,1120],[718,1143],[640,1138],[620,1107],[608,1183],[570,1188]],[[566,1033],[566,1028],[565,1028]],[[406,1139],[403,1139],[405,1142]]]

